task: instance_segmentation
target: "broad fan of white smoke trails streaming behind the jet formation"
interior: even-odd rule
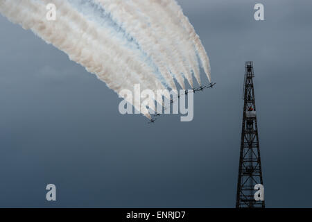
[[[46,18],[48,3],[56,6],[55,21]],[[176,89],[174,79],[185,89],[187,78],[193,87],[192,74],[200,83],[197,54],[210,81],[205,49],[179,7],[174,0],[0,0],[2,15],[67,53],[120,96],[122,89],[134,94],[136,84],[155,94]],[[125,100],[141,110],[139,101]]]

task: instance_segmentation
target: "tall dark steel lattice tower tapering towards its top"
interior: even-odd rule
[[[243,89],[243,124],[241,152],[239,157],[239,180],[237,183],[236,208],[265,207],[264,200],[254,199],[254,185],[263,185],[256,104],[254,102],[254,70],[252,62],[245,64]]]

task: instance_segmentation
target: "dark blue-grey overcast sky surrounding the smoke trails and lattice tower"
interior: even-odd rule
[[[0,16],[0,207],[234,207],[246,60],[266,206],[312,207],[312,1],[178,2],[217,85],[195,95],[193,121],[153,126],[119,114],[105,83]]]

